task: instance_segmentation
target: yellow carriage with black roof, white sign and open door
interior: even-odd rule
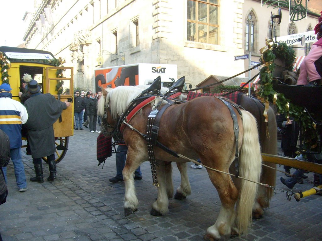
[[[12,98],[20,101],[21,79],[28,73],[42,86],[43,94],[50,93],[56,99],[68,100],[73,104],[73,68],[62,66],[51,52],[0,47],[1,83],[9,83]],[[60,162],[68,148],[68,137],[73,135],[74,108],[63,110],[61,117],[54,123],[56,142],[56,163]],[[23,146],[25,147],[25,146]],[[47,162],[46,158],[43,158]]]

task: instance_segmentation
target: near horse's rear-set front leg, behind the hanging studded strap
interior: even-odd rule
[[[159,184],[158,196],[156,201],[152,204],[150,214],[154,216],[161,216],[168,212],[168,198],[172,198],[173,195],[171,163],[158,161],[158,165],[156,165],[156,174]]]

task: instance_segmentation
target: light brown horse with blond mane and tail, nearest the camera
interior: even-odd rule
[[[104,117],[103,127],[111,134],[118,118],[142,90],[134,86],[119,86],[115,89],[103,89],[102,92],[98,114]],[[128,146],[126,165],[123,169],[126,216],[138,207],[133,174],[143,161],[148,160],[147,141],[143,138],[143,133],[147,132],[148,115],[157,103],[159,100],[143,107],[128,121],[129,126],[126,125],[123,129],[123,138]],[[235,112],[234,121],[230,109]],[[207,229],[205,235],[205,238],[210,240],[217,240],[222,235],[231,233],[241,234],[251,223],[252,206],[257,192],[257,184],[254,182],[260,180],[261,172],[260,143],[255,118],[247,111],[240,112],[241,115],[235,107],[228,108],[218,98],[204,96],[169,106],[159,124],[160,143],[190,159],[199,157],[208,167],[208,175],[222,202],[215,224]],[[238,123],[238,127],[234,126],[234,122],[235,125]],[[234,128],[239,128],[238,137],[235,137]],[[236,143],[239,150],[240,176],[251,180],[242,180],[238,188],[232,182],[231,176],[225,174],[229,172],[229,167],[235,159]],[[165,215],[168,211],[168,198],[173,195],[171,175],[169,178],[171,172],[165,171],[167,168],[171,169],[171,165],[165,164],[185,163],[188,160],[183,156],[172,156],[159,147],[154,147],[154,156],[159,187],[151,212]]]

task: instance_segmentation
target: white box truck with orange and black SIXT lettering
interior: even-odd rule
[[[177,65],[132,64],[95,69],[95,91],[121,85],[149,85],[161,76],[161,85],[169,88],[177,80]],[[186,89],[186,86],[185,86]]]

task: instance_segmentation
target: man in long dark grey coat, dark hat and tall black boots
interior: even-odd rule
[[[28,139],[33,157],[33,166],[36,177],[30,178],[32,182],[43,183],[42,157],[47,156],[50,176],[48,181],[56,179],[55,162],[55,136],[53,124],[71,103],[61,102],[55,99],[52,94],[40,93],[40,86],[37,81],[31,80],[26,86],[30,98],[26,100],[25,107],[30,118],[25,123],[28,129]]]

